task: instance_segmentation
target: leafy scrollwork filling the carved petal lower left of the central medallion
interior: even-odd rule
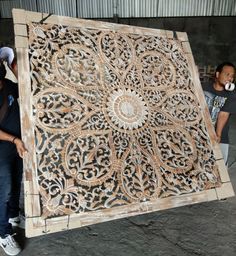
[[[79,183],[99,183],[111,173],[111,155],[107,135],[78,137],[66,147],[67,171]]]

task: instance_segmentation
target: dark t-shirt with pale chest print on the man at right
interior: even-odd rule
[[[211,115],[213,125],[216,124],[217,117],[220,111],[228,113],[236,113],[235,91],[217,91],[213,87],[213,81],[202,84],[205,94],[205,99]],[[229,143],[229,120],[227,121],[221,136],[221,143]]]

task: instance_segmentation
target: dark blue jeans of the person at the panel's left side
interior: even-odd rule
[[[9,218],[19,215],[23,161],[17,153],[0,159],[0,236],[12,233]]]

